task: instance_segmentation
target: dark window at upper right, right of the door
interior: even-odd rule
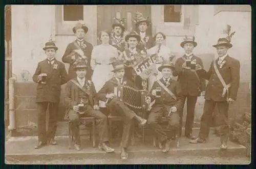
[[[164,22],[180,23],[182,22],[181,5],[164,5]]]

